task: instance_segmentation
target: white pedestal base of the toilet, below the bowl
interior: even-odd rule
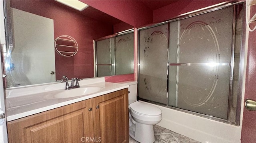
[[[155,141],[153,125],[136,122],[135,131],[130,129],[129,135],[140,143],[154,143]]]

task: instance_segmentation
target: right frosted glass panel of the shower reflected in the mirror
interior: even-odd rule
[[[116,74],[134,73],[134,33],[116,37]]]

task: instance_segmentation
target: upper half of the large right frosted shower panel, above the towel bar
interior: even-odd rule
[[[232,26],[233,7],[171,22],[170,63],[230,63]]]

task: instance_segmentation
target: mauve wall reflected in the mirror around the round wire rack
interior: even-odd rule
[[[60,35],[70,35],[76,39],[79,49],[73,57],[63,57],[55,52],[56,79],[61,79],[63,75],[68,78],[94,77],[93,40],[112,35],[113,25],[88,18],[70,8],[67,10],[56,1],[14,0],[11,6],[53,19],[54,38]]]

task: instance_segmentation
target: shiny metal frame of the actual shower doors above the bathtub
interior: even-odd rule
[[[200,9],[200,10],[195,10],[195,11],[192,11],[192,12],[188,12],[186,14],[181,14],[179,16],[176,16],[175,18],[171,19],[171,20],[167,20],[167,21],[164,21],[164,22],[160,22],[160,23],[157,23],[157,24],[153,24],[153,25],[149,25],[149,26],[146,26],[146,27],[140,27],[137,29],[137,33],[138,33],[138,38],[137,38],[137,41],[138,41],[138,45],[139,45],[139,39],[140,39],[140,34],[139,34],[139,31],[140,30],[143,30],[143,29],[148,29],[148,28],[152,28],[152,27],[156,27],[156,26],[160,26],[160,25],[164,25],[164,24],[168,24],[168,61],[167,61],[167,80],[166,80],[166,84],[167,84],[167,98],[166,98],[166,104],[162,104],[162,103],[158,103],[158,102],[154,102],[154,101],[150,101],[150,100],[146,100],[146,99],[142,99],[142,98],[139,98],[139,88],[138,88],[138,92],[137,92],[137,96],[138,96],[138,100],[142,100],[144,102],[148,102],[148,103],[152,103],[152,104],[156,104],[156,105],[159,105],[159,106],[163,106],[163,107],[166,107],[166,108],[170,108],[170,109],[174,109],[174,110],[178,110],[178,111],[181,111],[181,112],[185,112],[185,113],[188,113],[188,114],[193,114],[193,115],[196,115],[196,116],[201,116],[201,117],[204,117],[204,118],[208,118],[208,119],[213,119],[213,120],[216,120],[216,121],[221,121],[221,122],[224,122],[224,123],[228,123],[228,124],[231,124],[231,125],[236,125],[236,126],[239,126],[240,125],[240,113],[241,113],[241,99],[242,99],[242,83],[243,83],[243,75],[244,75],[244,54],[245,54],[245,34],[246,34],[246,30],[244,29],[244,27],[246,27],[245,25],[245,21],[244,21],[244,17],[242,19],[242,35],[241,35],[241,46],[240,46],[240,59],[239,59],[239,76],[238,76],[238,94],[237,94],[237,103],[236,103],[236,118],[235,118],[235,122],[231,122],[230,121],[230,100],[231,100],[231,94],[232,94],[232,78],[233,78],[233,69],[234,69],[234,46],[235,46],[235,33],[236,33],[236,13],[237,13],[237,6],[239,4],[243,4],[245,6],[245,2],[243,1],[239,1],[239,2],[233,2],[233,1],[228,1],[228,2],[222,2],[220,4],[217,4],[217,5],[214,5],[214,6],[210,6],[210,7],[206,7],[206,8],[203,8],[203,9]],[[176,107],[172,107],[172,106],[168,106],[168,88],[169,88],[169,49],[170,49],[170,45],[169,45],[169,37],[170,37],[170,22],[174,22],[174,21],[178,21],[178,20],[182,20],[182,19],[185,19],[185,18],[190,18],[190,17],[193,17],[193,16],[197,16],[197,15],[200,15],[200,14],[205,14],[205,13],[208,13],[208,12],[213,12],[213,11],[216,11],[216,10],[220,10],[220,9],[223,9],[223,8],[228,8],[228,7],[231,7],[233,6],[233,29],[232,29],[232,51],[231,51],[231,62],[230,62],[230,89],[229,89],[229,100],[228,100],[228,119],[222,119],[222,118],[217,118],[217,117],[214,117],[214,116],[210,116],[210,115],[206,115],[206,114],[200,114],[200,113],[196,113],[196,112],[192,112],[192,111],[189,111],[189,110],[184,110],[184,109],[181,109],[181,108],[176,108]],[[245,15],[245,14],[243,14]],[[139,52],[139,46],[138,46],[138,49],[137,49],[137,65],[138,65],[138,68],[137,68],[137,77],[139,77],[139,71],[140,71],[140,52]],[[138,87],[139,87],[139,78],[138,78]]]

